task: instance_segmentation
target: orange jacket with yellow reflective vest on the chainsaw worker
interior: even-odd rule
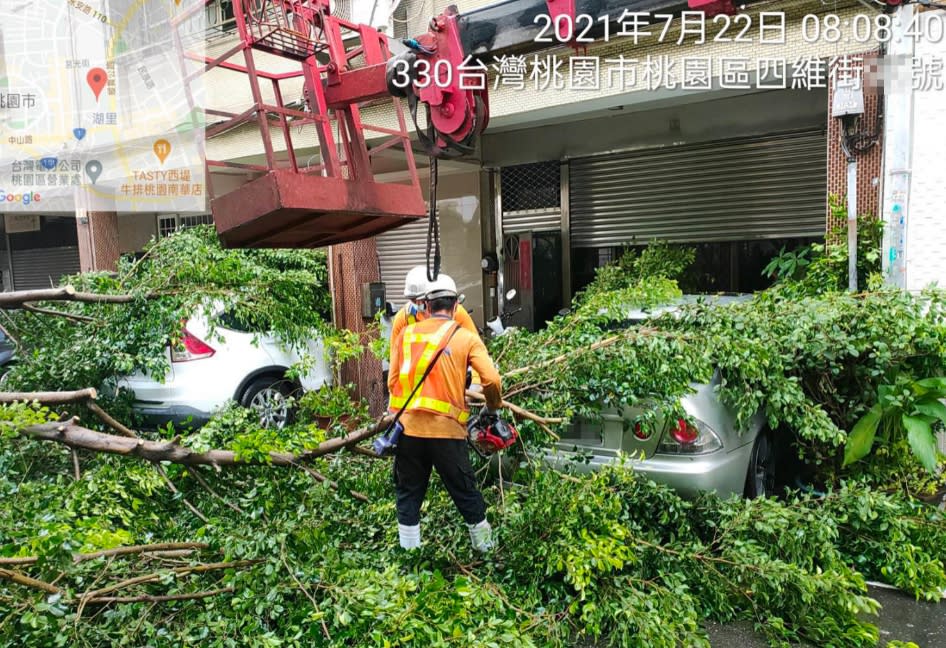
[[[405,408],[401,422],[409,436],[466,438],[468,365],[480,374],[487,406],[497,409],[502,403],[499,373],[485,345],[478,336],[458,327],[454,320],[428,318],[409,324],[391,344],[389,406],[393,411]],[[444,351],[430,375],[408,403],[407,397],[441,348]]]

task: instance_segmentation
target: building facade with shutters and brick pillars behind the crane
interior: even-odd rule
[[[430,16],[447,4],[457,4],[462,15],[495,3],[375,4],[384,10],[367,18],[358,3],[338,2],[335,10],[373,19],[401,39],[425,32]],[[625,247],[655,239],[697,249],[697,288],[757,290],[766,284],[762,268],[779,250],[822,240],[843,224],[832,217],[828,198],[848,193],[846,144],[852,142],[857,211],[880,215],[883,107],[890,98],[882,84],[865,83],[864,74],[876,71],[885,52],[876,29],[883,15],[879,5],[792,0],[750,6],[738,33],[725,20],[705,21],[694,33],[692,25],[651,18],[649,34],[636,36],[612,17],[623,31],[587,49],[552,43],[521,58],[484,54],[489,127],[475,155],[439,163],[437,194],[443,271],[457,280],[474,319],[482,325],[497,314],[505,292],[515,288],[513,306],[521,309],[515,323],[539,327],[596,268]],[[209,55],[233,46],[226,0],[210,6],[208,24]],[[863,111],[842,124],[833,110],[836,88],[852,77],[861,79]],[[252,103],[245,77],[226,70],[208,74],[206,94],[218,110],[239,112]],[[283,94],[301,101],[301,80],[287,82]],[[365,106],[362,114],[396,126],[390,111]],[[273,147],[285,156],[278,133]],[[300,138],[294,151],[309,164],[318,158],[317,140]],[[264,159],[252,125],[210,139],[207,153],[245,165]],[[383,156],[375,164],[385,180],[407,180],[406,169]],[[419,156],[418,167],[426,192],[429,162]],[[211,183],[222,195],[258,175],[249,168],[214,170]],[[209,219],[209,211],[83,213],[67,232],[57,215],[39,223],[7,218],[4,287],[46,285],[76,268],[107,269],[153,236]],[[400,306],[404,275],[425,262],[426,244],[427,223],[420,221],[334,246],[336,324],[368,326],[360,308],[368,283],[383,282],[387,300]],[[45,252],[29,253],[35,261],[24,270],[24,250],[39,249]],[[383,391],[379,367],[351,371],[365,395]]]

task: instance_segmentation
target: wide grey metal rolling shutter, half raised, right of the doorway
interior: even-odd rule
[[[823,236],[823,131],[570,162],[572,247]]]

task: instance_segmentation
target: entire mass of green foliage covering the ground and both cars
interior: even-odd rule
[[[200,233],[188,236],[194,238],[178,239],[186,245],[177,263],[162,265],[152,252],[137,264],[126,262],[118,278],[76,280],[87,289],[142,295],[131,305],[54,306],[95,317],[109,329],[129,327],[100,332],[108,340],[104,347],[83,343],[90,324],[18,316],[28,347],[40,350],[20,370],[21,384],[98,386],[119,370],[158,362],[172,334],[152,332],[161,344],[146,340],[145,329],[136,328],[122,308],[145,318],[152,331],[166,331],[212,295],[232,299],[233,317],[247,326],[274,327],[286,340],[302,339],[319,326],[311,310],[318,302],[305,295],[309,282],[319,281],[320,262],[290,264],[285,272],[302,274],[280,289],[280,299],[292,302],[283,310],[264,294],[266,282],[278,280],[270,269],[289,263],[282,253],[245,253],[247,260],[244,253],[231,258],[211,250],[217,267],[201,273],[188,270],[193,264],[184,257],[210,243],[201,243]],[[943,387],[941,379],[927,377],[946,375],[941,296],[848,295],[814,290],[814,283],[792,292],[788,280],[749,303],[696,303],[675,316],[628,322],[630,311],[652,311],[680,296],[677,280],[692,256],[668,249],[634,252],[620,270],[603,270],[572,313],[543,331],[493,340],[507,396],[566,419],[595,417],[602,407],[623,404],[676,411],[693,381],[706,381],[719,369],[720,396],[740,420],[761,410],[773,429],[799,437],[806,453],[823,461],[825,494],[685,501],[621,467],[563,475],[523,457],[513,486],[480,473],[496,530],[493,556],[474,555],[465,525],[436,480],[423,511],[425,547],[405,553],[397,545],[386,461],[347,453],[312,461],[310,471],[324,479],[294,467],[217,472],[167,465],[172,489],[145,463],[79,452],[76,478],[68,448],[16,434],[58,418],[60,409],[3,406],[0,501],[14,514],[0,516],[0,556],[37,557],[17,569],[55,582],[61,592],[0,579],[0,646],[706,647],[706,620],[751,623],[773,646],[877,645],[879,632],[870,622],[877,603],[867,594],[866,579],[934,600],[946,587],[946,520],[905,495],[909,488],[889,488],[917,472],[908,435],[878,444],[884,426],[878,422],[868,440],[858,421],[895,400],[901,420],[939,418],[935,399],[924,397]],[[811,278],[817,265],[815,259],[799,281]],[[251,268],[261,277],[258,285]],[[239,282],[229,278],[231,271]],[[156,291],[168,294],[143,297]],[[240,315],[237,298],[261,312]],[[295,319],[299,309],[309,310]],[[47,324],[61,339],[43,351],[40,329]],[[358,357],[363,342],[341,332],[327,344],[341,363]],[[79,368],[69,373],[47,366],[66,364],[65,358]],[[915,381],[910,398],[883,387],[899,385],[901,376]],[[231,404],[181,443],[262,457],[313,447],[368,418],[364,403],[352,403],[341,386],[306,393],[297,403],[298,422],[278,433]],[[520,430],[530,450],[549,438],[532,423]],[[164,438],[177,434],[172,428],[159,432]],[[842,446],[846,451],[854,445],[874,450],[842,466]],[[78,552],[170,541],[208,547],[183,556],[74,560]],[[239,560],[259,562],[205,573],[172,571]],[[82,604],[89,591],[143,574],[157,576],[114,593],[218,593],[199,600]]]

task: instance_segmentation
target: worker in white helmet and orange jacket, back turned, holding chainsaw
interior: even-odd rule
[[[492,547],[486,502],[476,486],[466,443],[467,367],[480,375],[488,414],[495,415],[502,405],[500,378],[479,336],[454,320],[457,307],[456,284],[441,275],[428,286],[428,317],[404,327],[391,345],[390,407],[404,410],[394,474],[398,536],[405,549],[421,544],[420,508],[432,468],[466,521],[474,548],[485,552]],[[426,380],[407,402],[432,362]]]

